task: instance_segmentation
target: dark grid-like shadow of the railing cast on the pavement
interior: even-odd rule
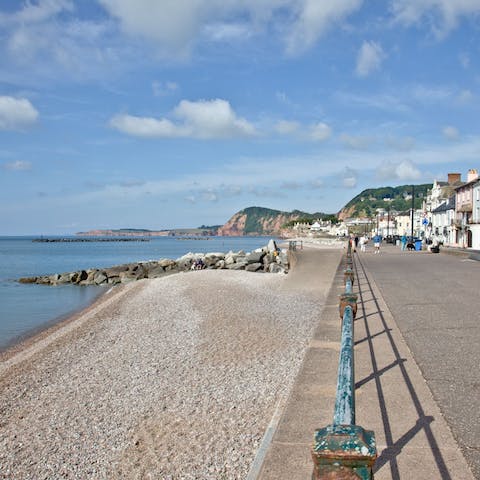
[[[359,258],[359,256],[355,256],[355,263],[354,263],[354,269],[355,269],[355,277],[358,279],[360,277],[363,277],[361,281],[358,282],[357,284],[357,290],[358,290],[358,307],[359,307],[359,312],[358,313],[363,313],[362,315],[357,316],[357,321],[360,319],[363,319],[364,325],[365,325],[365,331],[366,331],[366,337],[362,340],[360,340],[358,343],[362,343],[367,341],[368,346],[369,346],[369,352],[370,352],[370,358],[372,362],[372,369],[373,372],[371,375],[368,377],[364,378],[363,380],[360,380],[359,382],[356,383],[356,388],[361,387],[365,383],[369,381],[375,381],[375,386],[376,390],[378,393],[378,400],[379,400],[379,406],[380,406],[380,412],[381,412],[381,417],[382,417],[382,423],[384,427],[384,432],[385,432],[385,440],[387,444],[387,448],[384,449],[379,457],[377,458],[373,471],[378,472],[382,467],[384,467],[386,464],[390,465],[390,471],[391,471],[391,476],[393,480],[400,480],[400,473],[399,473],[399,468],[398,468],[398,462],[397,462],[397,457],[401,453],[402,448],[408,444],[409,441],[417,435],[420,431],[423,431],[426,435],[428,444],[430,446],[430,450],[432,452],[432,455],[435,459],[435,463],[437,465],[437,469],[439,472],[439,479],[441,480],[452,480],[452,477],[448,471],[448,468],[445,464],[445,461],[443,459],[443,456],[439,450],[437,440],[435,439],[435,436],[432,432],[431,429],[431,423],[434,421],[434,418],[431,416],[425,415],[424,409],[422,407],[422,404],[420,402],[420,399],[418,398],[418,395],[415,391],[415,388],[413,386],[413,383],[410,379],[410,376],[407,372],[407,369],[405,367],[405,359],[403,359],[399,353],[398,347],[395,343],[395,340],[393,338],[391,329],[389,328],[387,321],[385,319],[385,316],[383,315],[383,312],[380,309],[380,305],[378,302],[378,298],[375,296],[372,284],[370,279],[367,276],[365,267]],[[361,275],[359,275],[359,273]],[[368,294],[368,300],[365,302],[363,301],[364,297],[366,297]],[[378,317],[381,320],[382,326],[383,326],[383,331],[372,334],[370,332],[370,326],[369,326],[369,321],[368,318],[371,317],[371,314],[367,314],[366,309],[365,309],[365,304],[366,303],[374,303],[374,306],[376,308],[375,314],[378,315]],[[375,349],[373,346],[373,339],[378,336],[378,335],[387,335],[389,343],[391,345],[394,358],[395,360],[388,366],[384,368],[379,368],[377,364],[377,358],[375,354]],[[410,428],[406,433],[404,433],[398,440],[394,441],[393,439],[393,434],[392,434],[392,428],[391,428],[391,421],[389,418],[386,402],[385,402],[385,395],[382,387],[382,383],[380,381],[380,377],[387,371],[392,368],[399,368],[400,372],[402,374],[403,380],[405,382],[405,385],[408,389],[408,392],[410,394],[412,403],[415,407],[415,410],[417,412],[418,418],[415,423],[415,425]]]

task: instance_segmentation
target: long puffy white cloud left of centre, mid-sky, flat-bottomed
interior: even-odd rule
[[[222,99],[182,100],[173,111],[179,122],[170,119],[136,117],[120,114],[110,120],[110,125],[139,137],[191,137],[199,139],[234,138],[256,134],[255,127],[238,117],[230,103]]]

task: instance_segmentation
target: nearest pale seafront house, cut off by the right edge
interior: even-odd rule
[[[471,168],[467,174],[466,183],[455,187],[456,230],[455,243],[463,248],[473,247],[473,186],[478,183],[478,171]],[[477,229],[475,229],[477,233]],[[475,239],[475,243],[478,240]]]

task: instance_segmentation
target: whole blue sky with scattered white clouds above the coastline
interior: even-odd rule
[[[479,118],[480,0],[2,0],[0,235],[335,213]]]

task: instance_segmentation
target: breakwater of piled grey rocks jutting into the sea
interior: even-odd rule
[[[267,246],[249,253],[243,250],[228,253],[187,253],[176,260],[162,258],[116,265],[110,268],[90,268],[76,272],[23,277],[19,279],[19,282],[40,285],[116,285],[203,268],[287,273],[288,267],[287,252],[280,250],[275,241],[270,240]]]

